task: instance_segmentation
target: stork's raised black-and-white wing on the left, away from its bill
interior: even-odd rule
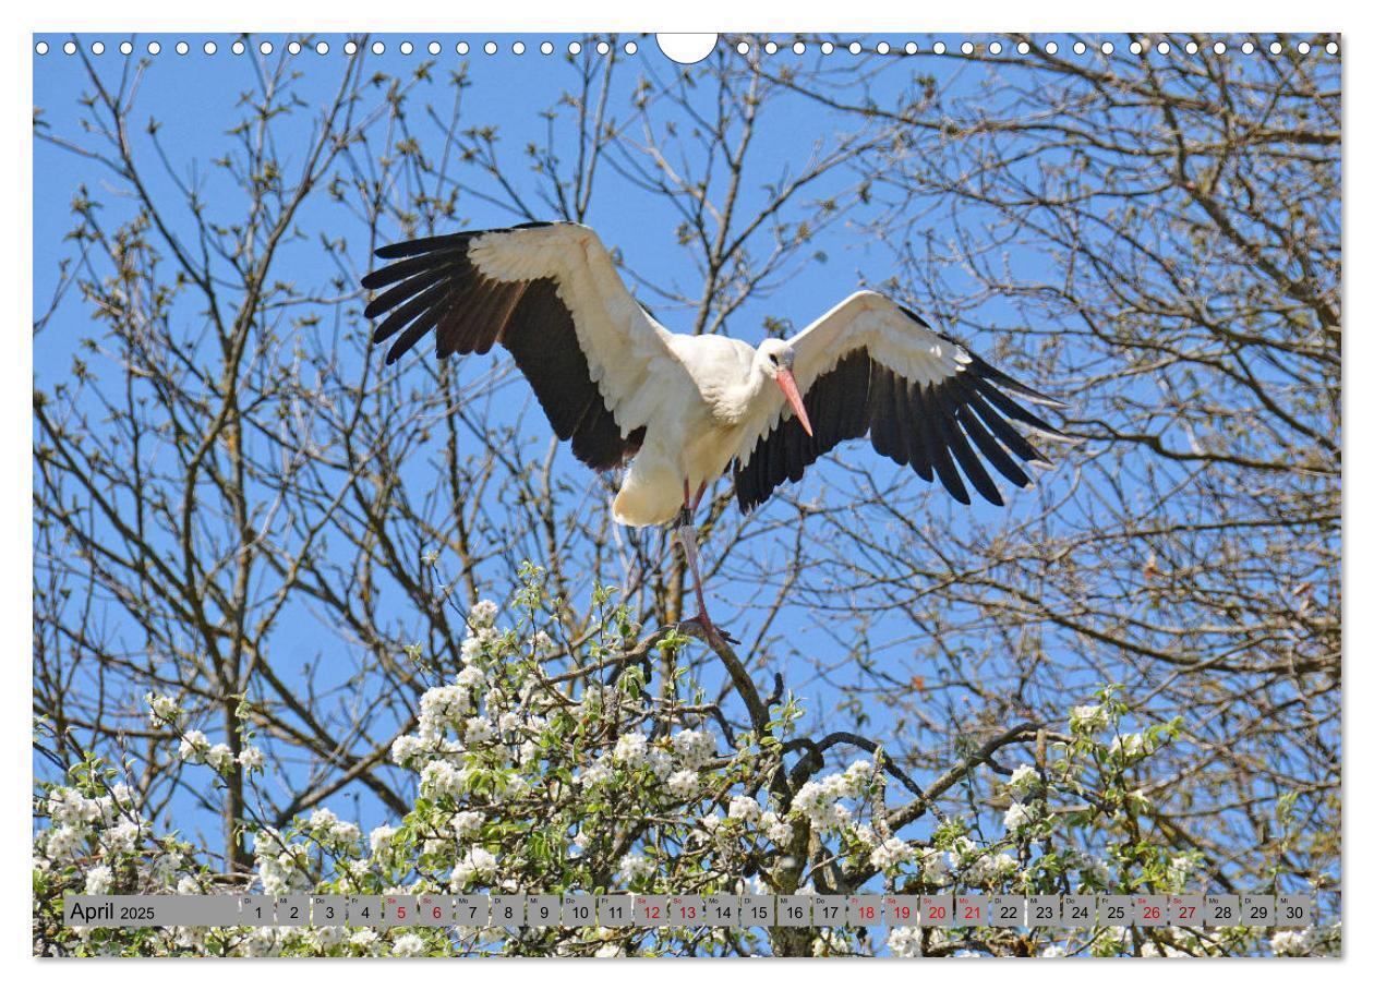
[[[653,323],[625,288],[594,231],[580,224],[522,224],[422,238],[376,251],[393,260],[363,279],[385,290],[364,310],[386,314],[372,341],[396,338],[396,361],[434,331],[434,353],[485,354],[502,343],[515,358],[559,439],[598,471],[643,444],[655,402],[654,375],[683,375]]]

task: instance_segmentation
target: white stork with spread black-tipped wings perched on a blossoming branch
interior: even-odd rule
[[[706,614],[692,518],[706,486],[734,464],[745,512],[845,439],[910,464],[960,503],[955,465],[988,501],[1002,496],[982,457],[1018,487],[1021,463],[1048,461],[1007,420],[1068,439],[1021,402],[1063,408],[871,291],[851,295],[790,339],[758,347],[673,334],[629,294],[595,231],[522,224],[382,247],[394,264],[364,288],[386,314],[374,342],[396,338],[392,364],[434,331],[436,354],[485,354],[502,343],[529,379],[559,439],[598,471],[627,461],[616,522],[677,519],[699,622]]]

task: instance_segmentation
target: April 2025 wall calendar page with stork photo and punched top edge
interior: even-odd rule
[[[32,34],[33,956],[1341,954],[1341,37],[904,16]]]

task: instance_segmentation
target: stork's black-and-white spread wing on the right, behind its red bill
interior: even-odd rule
[[[807,465],[841,441],[864,434],[874,450],[910,464],[926,481],[938,478],[965,505],[969,492],[956,464],[978,494],[1002,505],[984,459],[1018,487],[1030,485],[1018,460],[1048,465],[1007,420],[1069,439],[1021,404],[1062,409],[1062,402],[998,371],[878,292],[856,292],[789,343],[815,435],[807,435],[779,394],[735,460],[735,494],[745,511],[785,481],[800,481]]]

